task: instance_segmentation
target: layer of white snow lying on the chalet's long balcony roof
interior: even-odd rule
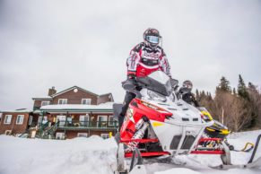
[[[40,109],[112,109],[114,102],[101,103],[100,105],[79,105],[79,104],[66,104],[66,105],[46,105]]]

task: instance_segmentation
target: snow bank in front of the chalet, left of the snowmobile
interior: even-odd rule
[[[1,174],[113,173],[117,144],[100,136],[72,140],[0,136]]]

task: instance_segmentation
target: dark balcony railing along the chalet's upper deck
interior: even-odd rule
[[[117,121],[58,121],[57,127],[68,128],[117,128]]]

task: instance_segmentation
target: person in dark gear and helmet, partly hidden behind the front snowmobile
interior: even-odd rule
[[[199,107],[199,103],[197,102],[194,94],[191,92],[193,88],[193,84],[191,83],[191,81],[184,81],[182,88],[186,88],[188,90],[184,94],[181,93],[182,100],[185,100],[188,104],[194,105],[196,108]]]

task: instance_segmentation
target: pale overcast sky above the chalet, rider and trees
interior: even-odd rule
[[[260,0],[0,0],[0,110],[31,109],[52,86],[122,101],[126,57],[149,27],[179,83],[261,86]]]

